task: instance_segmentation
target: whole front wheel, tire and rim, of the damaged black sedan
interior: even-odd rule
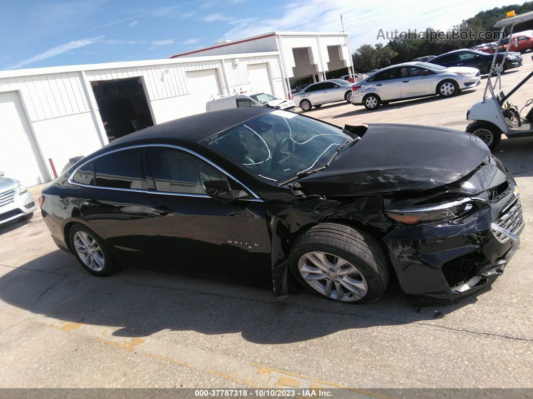
[[[304,287],[339,302],[373,302],[389,282],[387,260],[378,243],[343,224],[311,227],[294,243],[289,263]]]

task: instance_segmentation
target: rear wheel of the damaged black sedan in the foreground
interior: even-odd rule
[[[88,227],[75,224],[69,231],[69,239],[72,253],[87,272],[107,276],[118,270],[107,244]]]

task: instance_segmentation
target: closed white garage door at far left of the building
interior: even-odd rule
[[[47,181],[46,169],[17,92],[0,94],[0,115],[0,170],[4,176],[16,178],[25,186]]]

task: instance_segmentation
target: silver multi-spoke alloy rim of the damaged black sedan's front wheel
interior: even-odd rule
[[[298,271],[320,294],[342,302],[356,302],[368,292],[367,281],[348,260],[324,252],[310,252],[298,260]]]

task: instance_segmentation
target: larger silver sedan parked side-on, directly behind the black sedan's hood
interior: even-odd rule
[[[372,110],[391,101],[429,95],[451,97],[480,83],[480,72],[476,68],[406,62],[381,69],[354,85],[351,102]]]

